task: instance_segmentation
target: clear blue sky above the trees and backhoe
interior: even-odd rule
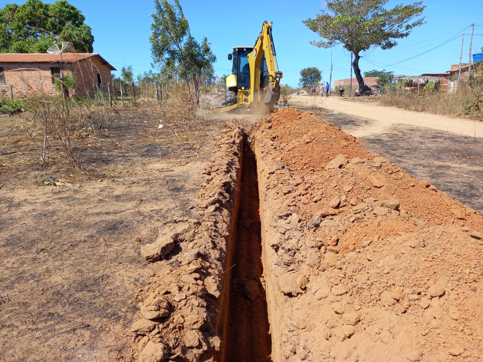
[[[22,4],[24,0],[0,1]],[[47,1],[54,2],[54,1]],[[94,52],[99,53],[119,71],[123,65],[132,65],[134,73],[151,69],[151,52],[148,37],[151,34],[151,14],[155,11],[151,0],[70,0],[85,15],[85,23],[92,27]],[[217,56],[216,73],[227,74],[231,62],[227,54],[234,46],[252,46],[264,20],[273,21],[273,38],[282,82],[296,86],[300,69],[317,67],[322,70],[324,81],[330,73],[330,49],[311,45],[317,35],[301,21],[315,17],[324,3],[320,0],[244,0],[241,2],[213,0],[180,0],[192,35],[199,41],[208,37]],[[399,1],[391,0],[389,6]],[[468,62],[469,34],[475,27],[472,53],[483,46],[483,18],[481,0],[469,0],[461,7],[449,0],[423,0],[426,5],[426,24],[415,28],[411,35],[399,41],[391,50],[371,49],[361,55],[360,68],[367,70],[393,70],[395,74],[420,75],[442,73],[451,64],[459,62],[461,33],[465,32],[463,62]],[[242,4],[242,5],[241,5]],[[461,3],[463,5],[463,3]],[[453,40],[451,40],[453,39]],[[432,50],[431,48],[446,44]],[[417,56],[423,52],[426,54]],[[413,56],[413,59],[406,60]],[[341,46],[333,49],[332,82],[350,77],[350,54]],[[116,74],[119,73],[116,72]]]

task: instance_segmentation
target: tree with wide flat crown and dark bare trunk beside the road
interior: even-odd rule
[[[342,43],[354,54],[352,63],[359,89],[364,89],[364,80],[359,69],[360,52],[370,47],[391,49],[405,38],[411,29],[425,23],[420,16],[426,6],[422,1],[410,5],[399,4],[385,9],[389,0],[327,0],[327,10],[320,10],[315,19],[302,22],[323,39],[311,44],[330,48]]]

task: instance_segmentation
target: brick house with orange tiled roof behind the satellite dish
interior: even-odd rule
[[[73,74],[77,80],[75,94],[92,96],[107,92],[111,70],[116,70],[102,56],[93,53],[0,54],[0,97],[24,97],[32,93],[56,94],[54,84],[60,72]]]

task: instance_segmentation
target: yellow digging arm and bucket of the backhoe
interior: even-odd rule
[[[272,37],[272,23],[263,22],[262,31],[258,34],[253,51],[248,54],[250,65],[250,92],[248,103],[273,106],[280,98],[280,79],[282,71],[277,70],[276,52]],[[260,89],[260,72],[263,56],[267,62],[268,80]]]

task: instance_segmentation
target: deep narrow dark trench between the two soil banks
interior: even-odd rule
[[[233,254],[227,325],[227,362],[269,362],[271,335],[265,283],[256,159],[246,135],[241,161],[240,207]]]

